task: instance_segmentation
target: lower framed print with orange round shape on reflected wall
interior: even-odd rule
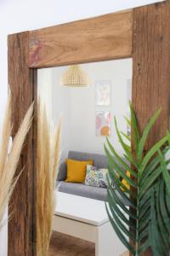
[[[96,136],[111,135],[111,113],[109,111],[96,111]]]

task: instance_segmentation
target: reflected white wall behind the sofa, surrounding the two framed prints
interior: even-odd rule
[[[111,112],[111,142],[122,154],[117,141],[113,117],[116,115],[118,125],[126,133],[127,125],[123,115],[127,114],[127,79],[132,78],[132,60],[104,61],[82,65],[88,73],[91,84],[87,88],[70,89],[70,149],[105,154],[105,137],[95,135],[95,112]],[[95,104],[95,82],[111,80],[111,106],[97,107]]]

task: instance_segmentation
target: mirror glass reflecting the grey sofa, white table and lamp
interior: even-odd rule
[[[76,86],[73,86],[72,81],[74,75],[79,76],[76,79],[80,84],[77,82]],[[104,143],[105,138],[109,137],[116,151],[122,154],[116,137],[114,116],[119,128],[127,136],[130,135],[124,116],[130,118],[128,102],[132,97],[132,59],[40,69],[38,95],[48,117],[54,120],[54,125],[59,122],[61,113],[63,119],[62,154],[57,181],[59,192],[55,208],[56,221],[53,224],[53,230],[57,232],[52,237],[54,250],[55,244],[56,247],[59,245],[59,239],[65,239],[66,242],[66,235],[70,235],[73,244],[75,236],[94,242],[95,250],[99,252],[97,255],[112,255],[111,244],[114,240],[116,255],[123,253],[126,249],[113,232],[105,211],[107,192],[104,173],[107,159]],[[100,180],[93,176],[99,169],[104,170]],[[87,231],[86,225],[91,226],[91,229]],[[101,226],[102,229],[99,229]],[[61,236],[61,233],[66,235]],[[99,239],[96,241],[94,234],[97,233]],[[107,253],[104,252],[105,234]],[[82,241],[78,242],[83,244]],[[69,240],[65,247],[68,249]],[[85,247],[93,251],[91,244],[85,244]],[[88,250],[87,255],[94,254]]]

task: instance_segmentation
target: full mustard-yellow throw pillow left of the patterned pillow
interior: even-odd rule
[[[86,177],[87,165],[93,166],[93,160],[78,161],[78,160],[66,160],[67,177],[65,182],[67,183],[84,183]]]

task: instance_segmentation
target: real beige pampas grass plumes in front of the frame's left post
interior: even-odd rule
[[[14,137],[10,152],[8,154],[8,143],[11,135],[11,96],[8,96],[8,104],[3,122],[2,139],[0,145],[0,230],[3,226],[3,215],[8,201],[14,190],[18,177],[14,173],[20,159],[20,152],[31,126],[33,105],[28,109],[26,116],[20,125],[20,129]]]

